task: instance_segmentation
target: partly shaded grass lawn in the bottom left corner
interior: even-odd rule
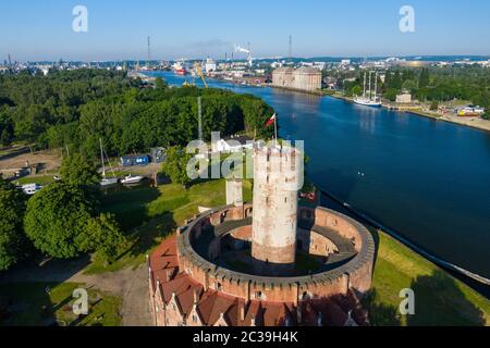
[[[49,286],[49,295],[46,288]],[[73,313],[75,283],[17,283],[0,285],[0,325],[46,326],[58,322],[66,326],[119,326],[122,300],[96,289],[88,289],[88,315]]]

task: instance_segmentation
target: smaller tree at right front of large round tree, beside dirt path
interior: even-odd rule
[[[115,261],[126,245],[126,238],[112,214],[102,213],[89,220],[86,234],[87,238],[81,248],[86,251],[97,251],[97,254],[108,262]]]

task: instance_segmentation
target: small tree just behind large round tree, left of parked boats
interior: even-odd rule
[[[97,165],[79,153],[63,159],[61,178],[73,186],[95,187],[100,183]]]

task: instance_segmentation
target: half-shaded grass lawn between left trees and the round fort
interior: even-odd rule
[[[252,199],[252,183],[248,181],[244,182],[244,198]],[[197,214],[198,207],[213,208],[225,202],[224,179],[198,183],[187,189],[169,184],[109,194],[103,199],[103,209],[115,214],[132,240],[132,247],[110,265],[94,261],[85,273],[138,266],[164,237],[173,234],[186,219]]]

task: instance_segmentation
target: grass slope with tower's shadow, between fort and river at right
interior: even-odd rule
[[[490,301],[384,233],[367,307],[373,325],[489,325]],[[400,290],[415,293],[415,315],[402,316]]]

